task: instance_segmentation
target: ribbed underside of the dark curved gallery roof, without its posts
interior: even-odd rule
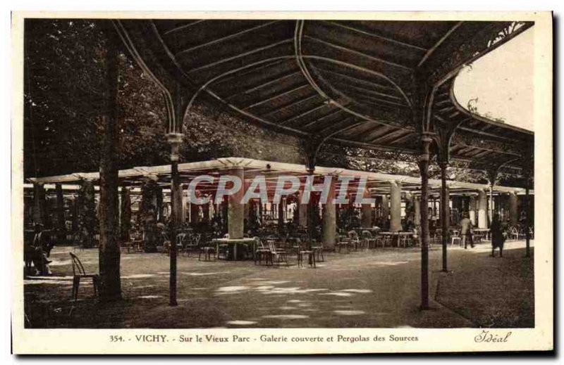
[[[450,155],[482,160],[515,155],[504,139],[532,138],[469,115],[451,92],[465,61],[522,32],[490,40],[485,47],[480,37],[496,34],[505,23],[308,20],[306,26],[303,20],[154,20],[145,34],[159,42],[160,51],[153,50],[171,64],[165,67],[169,73],[191,86],[183,112],[204,91],[236,113],[282,132],[418,153],[419,128],[412,115],[419,92],[412,81],[417,78],[429,88],[426,130],[457,126],[449,137]],[[477,36],[463,39],[469,34]]]

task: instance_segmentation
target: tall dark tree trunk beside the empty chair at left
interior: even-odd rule
[[[117,43],[111,25],[106,28],[107,112],[102,116],[104,127],[102,161],[100,162],[100,245],[99,295],[102,301],[121,299],[120,248],[118,226],[118,58]]]

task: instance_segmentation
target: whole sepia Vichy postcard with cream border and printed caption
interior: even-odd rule
[[[12,34],[14,353],[553,350],[550,12]]]

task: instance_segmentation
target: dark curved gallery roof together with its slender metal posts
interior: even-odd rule
[[[171,143],[171,167],[166,169],[173,196],[180,193],[178,146],[183,124],[190,123],[185,116],[197,101],[206,100],[266,129],[300,137],[306,174],[319,173],[316,157],[323,143],[417,160],[422,206],[427,206],[429,184],[438,184],[428,179],[429,162],[436,156],[443,207],[446,168],[453,160],[486,169],[492,186],[500,170],[522,174],[530,184],[532,132],[470,113],[456,101],[453,84],[465,65],[533,25],[114,20],[123,44],[164,96]],[[178,211],[173,203],[176,220]],[[446,209],[441,214],[446,270]],[[429,307],[427,215],[421,211],[423,309]],[[176,305],[174,251],[171,305]]]

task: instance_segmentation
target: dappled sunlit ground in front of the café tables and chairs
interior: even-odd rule
[[[317,269],[255,266],[252,262],[178,260],[178,307],[168,306],[168,257],[121,255],[124,300],[98,303],[81,283],[70,300],[70,248],[51,255],[54,276],[25,280],[30,327],[476,327],[533,326],[532,259],[522,241],[507,243],[503,258],[489,245],[430,252],[431,310],[420,311],[418,248],[386,248],[326,255]],[[97,250],[75,252],[97,271]],[[71,310],[72,309],[72,310]]]

